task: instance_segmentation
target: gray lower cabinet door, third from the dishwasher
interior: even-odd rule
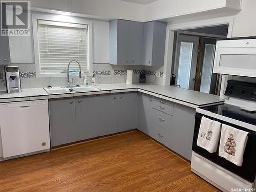
[[[117,126],[117,96],[98,96],[97,114],[98,136],[116,133]]]

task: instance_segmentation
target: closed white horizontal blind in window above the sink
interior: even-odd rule
[[[67,72],[77,60],[88,71],[88,25],[37,21],[40,73]],[[70,70],[78,69],[76,63]]]

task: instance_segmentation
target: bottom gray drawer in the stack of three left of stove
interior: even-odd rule
[[[156,125],[156,124],[152,124],[152,127],[150,128],[150,136],[157,140],[158,142],[162,143],[163,145],[167,146],[168,148],[170,148],[170,146],[172,145],[172,133],[163,129],[162,127]]]

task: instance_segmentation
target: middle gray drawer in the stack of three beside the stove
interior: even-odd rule
[[[173,116],[170,116],[168,114],[165,114],[161,111],[152,109],[152,122],[163,129],[167,131],[172,131],[172,118]]]

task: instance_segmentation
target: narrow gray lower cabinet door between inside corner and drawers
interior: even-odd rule
[[[149,134],[152,125],[152,98],[143,94],[138,97],[138,129]]]

